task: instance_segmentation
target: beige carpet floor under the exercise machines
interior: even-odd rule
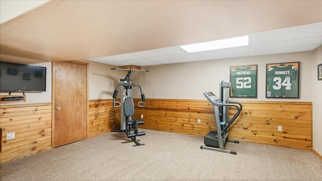
[[[227,142],[233,155],[200,149],[203,137],[144,131],[143,146],[110,132],[2,164],[0,180],[322,180],[311,151]]]

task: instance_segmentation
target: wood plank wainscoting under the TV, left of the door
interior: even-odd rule
[[[52,104],[0,105],[0,128],[0,164],[50,150]]]

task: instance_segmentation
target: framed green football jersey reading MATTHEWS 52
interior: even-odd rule
[[[257,97],[257,65],[230,66],[230,97]]]

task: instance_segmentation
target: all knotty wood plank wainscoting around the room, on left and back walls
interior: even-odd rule
[[[133,118],[139,119],[143,114],[144,124],[139,128],[197,136],[216,129],[213,106],[206,100],[146,99],[145,108],[138,107],[138,101],[134,99]],[[243,111],[229,129],[231,139],[311,149],[311,102],[240,102]],[[113,108],[112,99],[91,100],[89,108],[88,138],[120,128],[120,108]],[[235,112],[230,109],[229,117]],[[278,131],[277,126],[283,130]],[[0,164],[51,149],[51,128],[51,104],[1,105]],[[6,134],[11,132],[16,133],[16,138],[6,140]]]

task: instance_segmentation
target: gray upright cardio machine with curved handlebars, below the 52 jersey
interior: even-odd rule
[[[204,137],[205,145],[202,145],[200,147],[201,149],[237,154],[236,151],[231,151],[224,148],[226,141],[239,143],[239,141],[228,139],[228,128],[231,123],[237,118],[241,109],[243,109],[243,106],[239,102],[229,102],[230,87],[231,84],[229,82],[220,82],[220,98],[218,98],[212,92],[203,93],[208,101],[213,104],[217,131],[211,130]],[[237,109],[237,113],[231,118],[231,120],[229,120],[228,117],[229,107],[235,107]]]

